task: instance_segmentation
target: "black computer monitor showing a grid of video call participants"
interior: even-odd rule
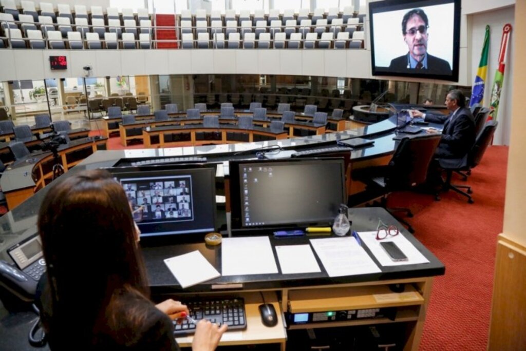
[[[192,236],[215,231],[213,165],[109,169],[126,192],[140,236]]]

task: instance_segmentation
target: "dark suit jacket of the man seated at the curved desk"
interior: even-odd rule
[[[444,124],[436,151],[438,158],[461,158],[475,143],[475,122],[468,108],[460,108],[452,118],[451,114],[426,113],[426,121]]]

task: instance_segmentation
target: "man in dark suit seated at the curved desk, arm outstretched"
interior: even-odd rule
[[[475,143],[475,122],[466,97],[458,89],[451,90],[446,97],[449,115],[434,115],[411,110],[412,117],[422,117],[432,123],[443,123],[442,138],[438,145],[437,158],[461,158]]]

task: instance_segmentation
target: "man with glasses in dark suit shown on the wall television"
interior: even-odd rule
[[[427,53],[429,20],[421,8],[414,8],[403,16],[402,35],[409,49],[406,55],[391,60],[389,69],[406,72],[413,69],[422,73],[450,75],[448,61]]]

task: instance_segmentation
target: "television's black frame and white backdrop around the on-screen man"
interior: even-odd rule
[[[458,1],[406,0],[369,3],[373,75],[429,75],[430,78],[458,80],[460,21],[455,9]],[[395,71],[389,68],[392,59],[408,54],[409,48],[402,33],[402,19],[407,12],[415,8],[422,9],[428,17],[427,54],[446,60],[451,67],[450,74],[438,77],[440,74],[429,73],[426,70]]]

